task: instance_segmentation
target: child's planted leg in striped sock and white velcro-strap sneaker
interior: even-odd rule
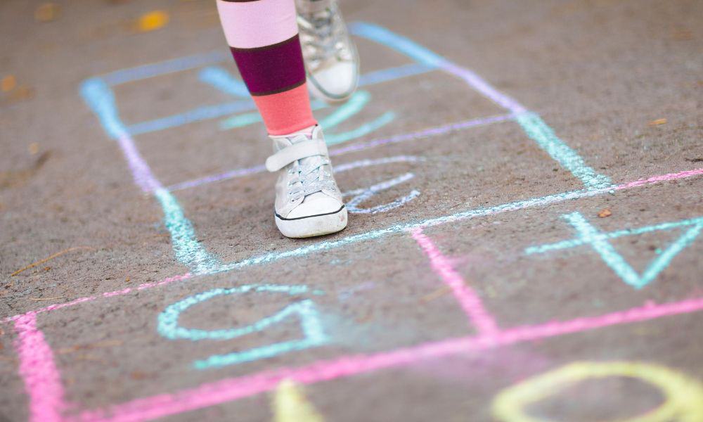
[[[276,226],[288,237],[335,233],[347,209],[305,83],[295,0],[217,0],[222,26],[275,153]]]

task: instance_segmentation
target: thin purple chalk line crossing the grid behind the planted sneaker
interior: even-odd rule
[[[366,150],[369,148],[375,148],[377,146],[386,145],[388,143],[399,143],[399,142],[413,141],[415,139],[429,138],[431,136],[439,136],[439,135],[447,134],[449,132],[453,132],[456,130],[468,129],[470,127],[477,127],[477,126],[482,126],[485,124],[505,122],[508,120],[513,120],[514,118],[515,118],[515,115],[507,114],[507,115],[497,115],[497,116],[491,116],[491,117],[482,117],[479,119],[465,120],[463,122],[445,124],[443,126],[432,127],[430,129],[423,129],[419,132],[413,132],[410,134],[401,134],[401,135],[391,136],[390,138],[383,138],[383,139],[373,139],[372,141],[356,143],[354,145],[344,146],[342,148],[335,148],[333,150],[330,150],[330,156],[342,155],[345,153],[352,153],[355,151],[363,151],[363,150]],[[212,174],[211,176],[202,177],[200,179],[183,181],[181,183],[168,186],[167,190],[168,191],[181,191],[181,190],[187,189],[187,188],[194,188],[195,186],[201,186],[201,185],[209,184],[209,183],[216,183],[218,181],[223,181],[223,180],[228,180],[228,179],[235,179],[237,177],[245,177],[245,176],[249,176],[250,174],[257,174],[257,173],[262,173],[265,171],[266,171],[266,167],[264,167],[263,165],[257,165],[254,167],[245,167],[242,169],[230,170],[228,172],[224,172],[224,173],[220,173],[220,174]]]

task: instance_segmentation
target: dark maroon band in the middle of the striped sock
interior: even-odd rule
[[[256,49],[230,47],[239,73],[252,95],[276,94],[305,82],[305,65],[298,35]]]

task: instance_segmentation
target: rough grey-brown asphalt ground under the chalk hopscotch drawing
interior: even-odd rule
[[[499,393],[567,368],[568,388],[532,385],[523,411],[614,420],[678,397],[662,421],[703,421],[703,2],[342,1],[350,22],[472,70],[553,136],[442,70],[368,84],[366,106],[327,133],[393,117],[330,147],[359,146],[333,158],[357,166],[337,181],[343,191],[404,181],[368,193],[342,233],[304,241],[276,230],[271,174],[144,193],[98,119],[109,98],[91,108],[81,95],[86,81],[112,80],[133,130],[210,107],[131,136],[162,186],[261,165],[262,124],[221,127],[252,110],[218,105],[246,98],[200,80],[211,66],[236,75],[214,2],[66,0],[49,22],[37,22],[39,5],[0,3],[0,420],[268,421],[284,378],[304,384],[326,421],[518,420],[496,412]],[[138,30],[154,10],[169,23]],[[357,40],[364,73],[413,63]],[[162,62],[160,75],[134,70]],[[117,84],[124,69],[141,79]],[[477,124],[449,127],[467,121]],[[574,157],[615,187],[585,191]],[[382,159],[392,162],[364,161]],[[423,222],[422,234],[405,230]],[[583,244],[529,249],[579,230]],[[289,291],[227,290],[251,285]],[[198,297],[181,338],[168,338],[160,315],[208,291],[230,294]],[[467,319],[477,303],[460,306],[474,293],[484,318]],[[89,299],[46,311],[79,298]],[[284,308],[297,314],[267,319]],[[483,330],[486,319],[500,331]],[[260,329],[233,331],[251,324]],[[198,335],[187,328],[210,338],[182,338]],[[194,366],[216,355],[242,360]],[[639,366],[618,375],[614,362]],[[598,378],[599,364],[614,372]],[[660,367],[669,375],[643,381]]]

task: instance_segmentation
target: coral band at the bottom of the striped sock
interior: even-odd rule
[[[310,108],[307,84],[279,94],[254,96],[269,135],[287,135],[317,124]]]

